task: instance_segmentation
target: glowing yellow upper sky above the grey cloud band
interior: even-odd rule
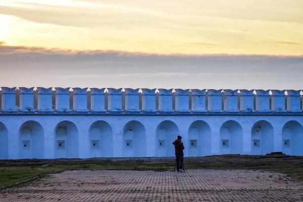
[[[303,1],[6,1],[9,46],[159,54],[303,55]]]

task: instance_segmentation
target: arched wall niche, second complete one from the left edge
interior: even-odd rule
[[[78,158],[79,140],[76,125],[68,120],[60,122],[55,128],[56,158]]]

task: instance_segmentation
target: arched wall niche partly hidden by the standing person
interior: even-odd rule
[[[177,139],[179,129],[174,122],[164,120],[156,129],[156,156],[175,156],[172,142]]]

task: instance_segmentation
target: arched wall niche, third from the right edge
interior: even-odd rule
[[[228,120],[220,128],[221,154],[242,154],[243,130],[238,122]]]

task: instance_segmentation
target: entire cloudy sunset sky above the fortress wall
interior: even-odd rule
[[[302,89],[303,1],[0,1],[0,86]]]

